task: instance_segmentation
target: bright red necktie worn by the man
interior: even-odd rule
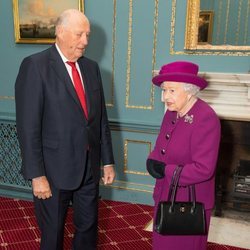
[[[85,96],[85,92],[84,92],[84,89],[82,86],[82,81],[81,81],[79,72],[76,68],[76,63],[75,62],[67,62],[67,64],[70,65],[72,68],[72,77],[73,77],[73,81],[74,81],[74,85],[75,85],[75,90],[76,90],[78,98],[81,102],[85,116],[88,119],[88,109],[87,109],[86,96]]]

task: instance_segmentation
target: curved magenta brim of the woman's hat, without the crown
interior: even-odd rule
[[[204,89],[207,87],[208,83],[205,79],[191,74],[185,73],[170,73],[170,74],[160,74],[155,76],[152,79],[152,82],[156,86],[160,86],[163,82],[183,82],[183,83],[191,83],[198,86],[200,89]]]

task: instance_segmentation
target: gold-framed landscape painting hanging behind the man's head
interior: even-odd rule
[[[15,42],[54,43],[57,17],[66,9],[84,12],[84,0],[13,0]]]

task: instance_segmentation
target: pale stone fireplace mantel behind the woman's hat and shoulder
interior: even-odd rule
[[[250,121],[250,74],[201,72],[199,75],[208,81],[208,87],[199,97],[222,120]]]

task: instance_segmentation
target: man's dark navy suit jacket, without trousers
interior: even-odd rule
[[[102,80],[96,62],[78,60],[89,118],[55,45],[25,58],[15,84],[17,134],[26,179],[45,175],[60,189],[75,189],[83,178],[87,150],[100,179],[101,160],[113,164]]]

